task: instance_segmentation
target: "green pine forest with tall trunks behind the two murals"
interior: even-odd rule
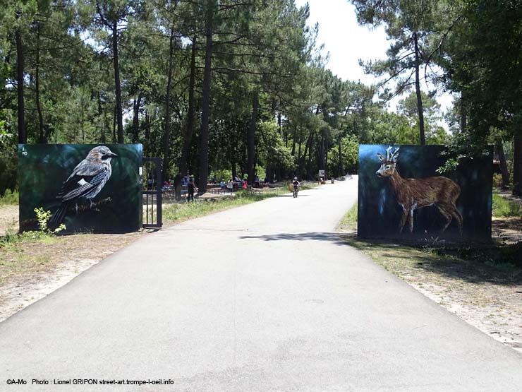
[[[358,143],[447,144],[456,160],[494,143],[521,193],[522,6],[351,3],[386,25],[388,59],[363,64],[381,83],[332,74],[293,0],[4,1],[0,194],[16,188],[16,143],[142,143],[200,191],[212,172],[356,172]],[[454,92],[454,108],[421,85]]]

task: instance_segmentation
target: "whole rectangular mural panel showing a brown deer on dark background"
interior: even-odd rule
[[[360,237],[489,241],[492,148],[439,174],[442,145],[360,145]]]

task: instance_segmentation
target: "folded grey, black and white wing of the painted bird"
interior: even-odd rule
[[[57,198],[64,202],[84,196],[103,182],[108,174],[107,166],[92,165],[84,160],[75,167],[71,176],[63,183]]]

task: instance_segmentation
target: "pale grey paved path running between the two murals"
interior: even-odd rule
[[[336,182],[140,239],[0,323],[0,391],[521,391],[522,355],[332,233],[355,199]]]

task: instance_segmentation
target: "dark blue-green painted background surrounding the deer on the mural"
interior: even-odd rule
[[[393,145],[400,147],[397,170],[403,178],[424,178],[444,176],[461,187],[461,196],[456,207],[463,218],[463,235],[459,234],[455,220],[445,232],[444,218],[437,207],[419,208],[414,213],[413,233],[408,224],[399,234],[402,208],[396,201],[391,182],[387,177],[379,177],[381,162],[377,153],[386,156],[389,145],[359,146],[359,197],[358,197],[358,236],[365,238],[402,239],[450,239],[489,241],[491,239],[492,207],[492,148],[483,155],[464,160],[459,168],[451,173],[439,174],[438,167],[444,165],[446,158],[441,155],[442,145]]]

